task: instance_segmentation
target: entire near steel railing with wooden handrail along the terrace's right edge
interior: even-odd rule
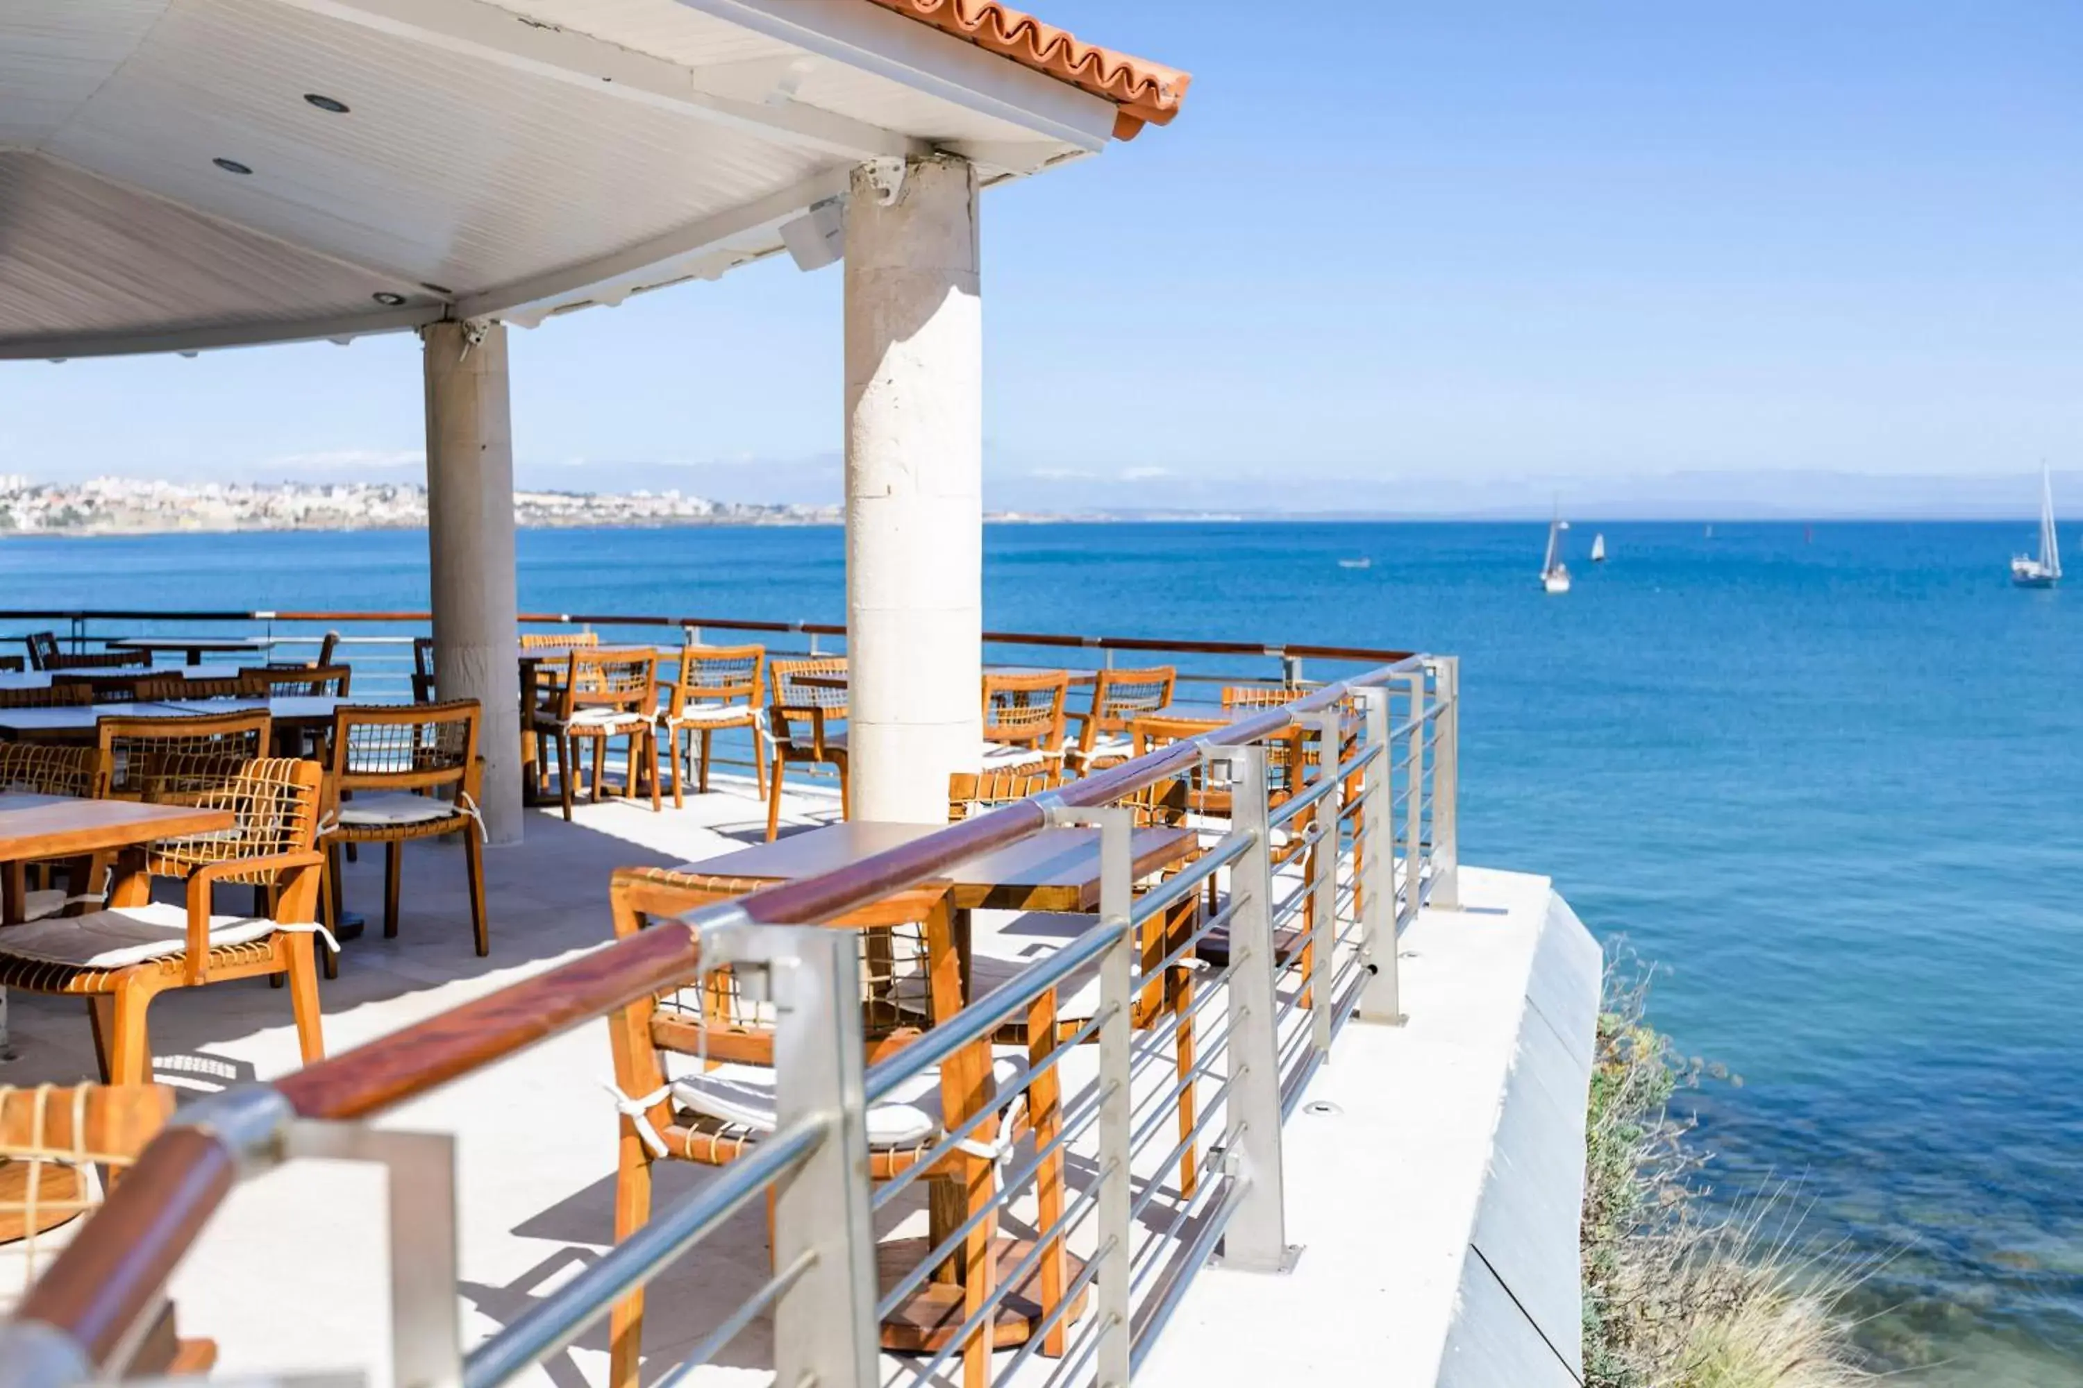
[[[390,1167],[400,1388],[515,1380],[762,1194],[773,1199],[773,1276],[662,1382],[771,1315],[781,1384],[948,1382],[960,1361],[971,1388],[1125,1386],[1210,1259],[1254,1274],[1294,1265],[1283,1120],[1350,1022],[1402,1018],[1396,939],[1423,905],[1456,899],[1456,662],[1398,660],[844,870],[652,926],[271,1084],[198,1101],[0,1328],[0,1380],[56,1388],[121,1378],[169,1274],[237,1180],[300,1157],[348,1157]],[[1198,851],[1169,876],[1137,880],[1131,834],[1158,803],[1185,807]],[[867,1063],[856,936],[814,926],[1058,826],[1098,828],[1096,922]],[[1154,930],[1173,920],[1187,924]],[[719,966],[779,1018],[775,1130],[465,1351],[452,1140],[369,1120]],[[1094,972],[1096,1007],[1058,1032],[1058,997]],[[1148,999],[1160,1005],[1139,1007]],[[910,1174],[871,1186],[869,1107],[989,1047],[1037,1005],[1050,1040],[1029,1045],[977,1109],[950,1113]],[[1023,1142],[975,1157],[996,1172],[992,1197],[914,1271],[879,1286],[877,1211],[1014,1113],[1027,1120]],[[1033,1230],[1027,1251],[964,1290],[960,1323],[939,1348],[883,1361],[883,1315],[1000,1219]],[[994,1351],[1004,1303],[1033,1284],[1029,1274],[1042,1286],[1031,1334]]]

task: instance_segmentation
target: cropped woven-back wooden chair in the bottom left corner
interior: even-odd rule
[[[158,1084],[0,1084],[0,1317],[100,1209],[173,1117]],[[217,1363],[212,1340],[181,1340],[173,1305],[160,1309],[125,1376],[198,1376]]]

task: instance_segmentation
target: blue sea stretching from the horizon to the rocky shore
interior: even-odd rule
[[[2083,583],[2008,587],[2031,522],[1573,539],[1546,597],[1539,524],[992,526],[985,622],[1460,653],[1462,855],[1660,966],[1654,1020],[1741,1078],[1687,1097],[1718,1194],[1791,1188],[1904,1382],[2083,1384]],[[0,579],[6,608],[427,591],[417,533],[10,539]],[[521,601],[837,622],[842,537],[523,533]]]

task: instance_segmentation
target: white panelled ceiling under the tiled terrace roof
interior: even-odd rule
[[[0,356],[531,325],[773,254],[862,158],[1110,125],[864,0],[8,0]]]

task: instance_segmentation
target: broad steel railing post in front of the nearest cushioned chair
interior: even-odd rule
[[[779,1128],[825,1122],[825,1140],[775,1182],[775,1267],[812,1261],[775,1303],[775,1382],[794,1388],[873,1388],[881,1330],[875,1317],[875,1224],[869,1186],[860,959],[852,930],[739,926],[739,988],[758,986],[764,957],[777,1011]]]

